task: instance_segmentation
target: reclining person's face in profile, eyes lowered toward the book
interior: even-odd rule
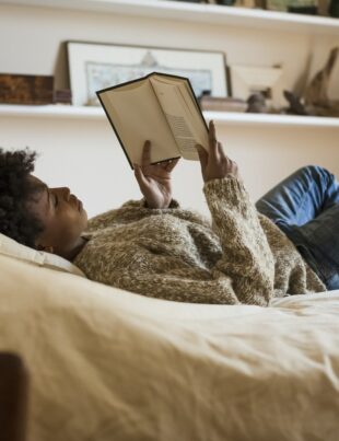
[[[48,188],[33,175],[30,181],[37,192],[28,201],[28,209],[45,225],[36,246],[67,257],[79,244],[80,235],[87,225],[87,213],[68,187]]]

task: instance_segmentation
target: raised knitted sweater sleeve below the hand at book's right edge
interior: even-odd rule
[[[273,297],[274,259],[255,206],[241,181],[233,176],[204,185],[213,228],[223,254],[215,270],[226,274],[242,303]]]

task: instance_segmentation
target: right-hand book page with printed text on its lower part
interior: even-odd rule
[[[200,143],[208,150],[208,130],[187,82],[156,74],[150,80],[182,155],[198,160],[195,146]]]

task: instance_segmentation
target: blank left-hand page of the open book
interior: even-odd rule
[[[100,96],[131,163],[141,164],[148,139],[151,162],[180,156],[149,79],[104,91]]]

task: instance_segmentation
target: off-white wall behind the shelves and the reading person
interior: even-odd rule
[[[66,86],[66,51],[60,43],[68,39],[222,50],[229,63],[282,63],[290,90],[301,90],[307,66],[313,66],[313,72],[318,70],[329,48],[339,45],[339,35],[314,37],[107,13],[0,5],[1,72],[56,73],[57,85]],[[339,97],[339,62],[330,93],[331,97]],[[305,164],[327,166],[339,176],[338,129],[221,125],[217,128],[226,152],[238,162],[253,198]],[[36,174],[49,185],[69,185],[90,214],[139,197],[132,173],[106,120],[1,117],[0,146],[30,146],[39,151]],[[182,162],[174,172],[175,196],[184,206],[207,211],[201,186],[199,165]]]

